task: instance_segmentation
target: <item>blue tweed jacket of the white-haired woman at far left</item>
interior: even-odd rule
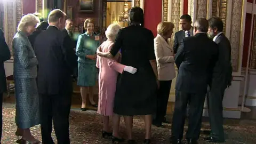
[[[14,58],[14,78],[36,78],[37,59],[28,37],[22,31],[15,34],[12,41]]]

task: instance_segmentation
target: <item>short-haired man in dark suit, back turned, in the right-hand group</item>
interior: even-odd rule
[[[207,37],[207,30],[206,19],[196,20],[195,36],[183,38],[174,58],[179,71],[175,85],[172,143],[181,143],[188,103],[187,143],[197,143],[199,138],[207,84],[218,53],[218,46]]]

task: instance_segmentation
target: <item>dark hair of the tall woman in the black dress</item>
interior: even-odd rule
[[[143,10],[140,7],[138,6],[132,7],[129,13],[129,17],[130,17],[130,25],[140,24],[142,27],[144,26],[144,14],[143,14]]]

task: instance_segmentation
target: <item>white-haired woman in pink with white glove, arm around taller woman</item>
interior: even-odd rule
[[[99,49],[102,52],[108,52],[114,45],[116,35],[121,27],[116,24],[111,24],[106,30],[107,41],[103,42]],[[122,65],[118,63],[120,54],[115,57],[115,59],[108,59],[103,57],[97,58],[96,67],[99,68],[99,103],[98,103],[98,113],[103,116],[103,131],[102,137],[112,136],[112,141],[124,141],[124,139],[118,137],[119,125],[113,127],[113,134],[109,127],[109,116],[113,116],[113,123],[119,123],[120,116],[113,115],[114,107],[114,97],[116,92],[116,81],[118,73],[123,73],[127,71],[131,74],[136,73],[137,69]]]

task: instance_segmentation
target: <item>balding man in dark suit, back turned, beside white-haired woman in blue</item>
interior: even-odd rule
[[[48,16],[49,27],[35,41],[42,142],[47,144],[53,143],[52,119],[58,143],[70,143],[71,74],[76,60],[74,50],[61,32],[65,20],[66,14],[61,10],[51,11]]]

